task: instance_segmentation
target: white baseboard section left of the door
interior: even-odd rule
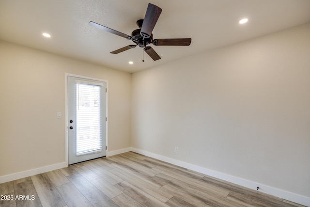
[[[46,172],[57,170],[57,169],[64,168],[67,166],[68,166],[68,163],[61,162],[61,163],[57,163],[57,164],[53,164],[53,165],[48,165],[48,166],[44,166],[44,167],[40,167],[40,168],[27,170],[27,171],[22,171],[19,173],[14,173],[14,174],[10,174],[10,175],[3,175],[3,176],[0,176],[0,183],[5,183],[5,182],[17,180],[17,179],[32,176],[32,175],[46,173]]]

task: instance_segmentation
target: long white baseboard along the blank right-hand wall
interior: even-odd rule
[[[187,162],[183,162],[183,161],[180,161],[177,159],[171,159],[171,158],[168,158],[165,156],[157,155],[157,154],[147,152],[144,150],[131,148],[131,151],[139,153],[141,155],[151,157],[151,158],[159,159],[159,160],[162,160],[162,161],[165,161],[165,162],[168,162],[168,163],[180,166],[180,167],[184,167],[186,169],[193,170],[193,171],[202,173],[204,175],[216,177],[218,179],[225,180],[225,181],[228,181],[228,182],[231,182],[231,183],[234,183],[234,184],[237,184],[237,185],[240,185],[240,186],[252,189],[252,190],[256,190],[257,187],[259,187],[259,191],[262,191],[262,192],[267,193],[269,195],[273,195],[273,196],[276,196],[276,197],[279,197],[279,198],[282,198],[282,199],[285,199],[288,201],[292,201],[294,203],[298,203],[298,204],[302,204],[302,205],[310,207],[310,197],[298,195],[298,194],[295,194],[295,193],[289,192],[289,191],[283,191],[283,190],[280,190],[277,188],[273,188],[270,186],[263,185],[261,183],[256,183],[256,182],[246,180],[246,179],[243,179],[240,177],[235,177],[233,175],[227,175],[224,173],[220,173],[220,172],[217,172],[214,170],[203,168],[203,167],[193,165],[193,164],[190,164]]]

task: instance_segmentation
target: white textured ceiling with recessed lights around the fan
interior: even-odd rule
[[[131,35],[148,3],[162,9],[154,39],[192,38],[191,45],[152,45],[161,59],[144,53],[142,62],[139,47],[110,54],[132,41],[88,25],[94,21]],[[249,21],[239,25],[243,17]],[[0,40],[127,72],[308,22],[310,0],[0,0]]]

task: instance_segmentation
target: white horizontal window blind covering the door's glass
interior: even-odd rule
[[[77,155],[102,150],[100,84],[76,83]]]

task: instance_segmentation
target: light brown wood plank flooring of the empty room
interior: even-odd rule
[[[301,207],[134,152],[2,183],[0,195],[1,207]]]

